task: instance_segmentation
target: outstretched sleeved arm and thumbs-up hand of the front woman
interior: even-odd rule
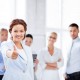
[[[11,45],[11,44],[9,44]],[[12,48],[7,45],[7,42],[3,42],[1,44],[1,52],[3,55],[3,58],[7,59],[7,58],[12,58],[12,59],[16,59],[18,57],[18,53],[16,51],[16,48],[14,47],[14,49],[12,50]],[[11,49],[10,49],[11,48]]]

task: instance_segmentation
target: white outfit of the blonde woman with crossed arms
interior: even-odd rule
[[[59,59],[61,59],[60,62],[58,61]],[[37,76],[38,80],[42,80],[42,79],[43,80],[49,80],[49,79],[50,80],[59,80],[58,70],[50,70],[51,72],[48,70],[49,72],[46,75],[45,74],[46,73],[45,67],[46,67],[46,63],[54,63],[54,62],[57,62],[58,68],[62,67],[63,57],[62,57],[62,53],[61,53],[60,49],[55,47],[54,54],[51,56],[48,51],[48,48],[45,48],[45,49],[41,50],[40,53],[38,54],[38,60],[39,60],[39,64],[38,64],[37,71],[36,71],[36,76]],[[54,71],[56,71],[56,72],[54,72]],[[43,73],[44,73],[44,75],[46,75],[46,79],[44,79]],[[54,74],[52,74],[52,73],[54,73]],[[49,75],[52,75],[51,77],[53,77],[53,78],[51,79],[51,77]],[[55,76],[53,76],[53,75],[55,75]]]

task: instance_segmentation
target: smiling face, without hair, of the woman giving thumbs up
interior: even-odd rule
[[[21,24],[14,25],[11,31],[13,41],[20,42],[23,40],[25,35],[24,26]]]

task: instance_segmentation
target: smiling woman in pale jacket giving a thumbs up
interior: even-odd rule
[[[2,43],[6,72],[3,80],[34,80],[32,53],[25,45],[27,24],[22,19],[14,19],[9,32],[11,40]]]

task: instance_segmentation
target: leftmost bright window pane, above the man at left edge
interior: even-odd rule
[[[7,25],[15,17],[15,0],[0,1],[0,25]],[[1,26],[0,26],[1,28]]]

